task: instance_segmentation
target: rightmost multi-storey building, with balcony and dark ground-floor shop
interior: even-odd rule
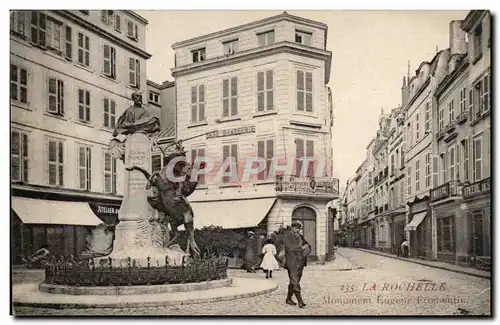
[[[450,23],[448,69],[435,94],[434,258],[465,265],[491,255],[490,37],[486,11]]]

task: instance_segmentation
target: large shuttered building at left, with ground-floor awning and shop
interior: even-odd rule
[[[77,254],[89,227],[115,223],[123,164],[107,147],[146,89],[147,21],[128,10],[10,14],[14,263],[47,245]]]

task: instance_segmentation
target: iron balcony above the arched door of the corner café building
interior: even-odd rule
[[[274,189],[281,197],[319,197],[337,199],[339,180],[331,177],[277,176]]]

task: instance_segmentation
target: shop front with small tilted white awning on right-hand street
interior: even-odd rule
[[[408,203],[408,223],[405,227],[410,244],[410,256],[432,259],[432,219],[429,197]]]

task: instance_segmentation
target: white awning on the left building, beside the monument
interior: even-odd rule
[[[87,202],[12,197],[12,209],[25,224],[97,226],[102,223]]]

